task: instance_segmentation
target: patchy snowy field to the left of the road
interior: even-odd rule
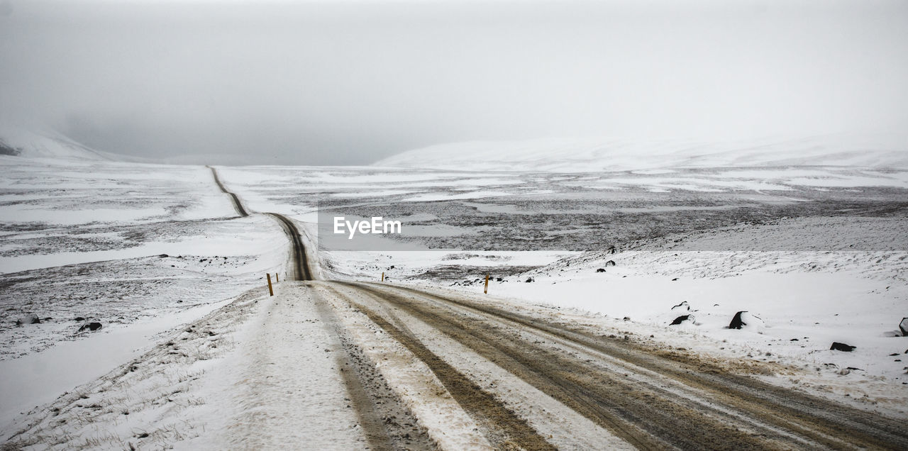
[[[233,218],[204,167],[0,165],[2,423],[283,271],[280,227]],[[16,325],[28,315],[41,322]]]

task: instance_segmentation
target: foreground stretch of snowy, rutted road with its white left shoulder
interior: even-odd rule
[[[336,281],[257,291],[35,412],[6,445],[908,446],[899,419],[749,376],[773,365],[501,299]]]

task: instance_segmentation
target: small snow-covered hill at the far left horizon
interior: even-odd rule
[[[98,152],[74,142],[57,132],[32,132],[12,126],[0,127],[0,155],[55,160],[114,160],[114,156]]]

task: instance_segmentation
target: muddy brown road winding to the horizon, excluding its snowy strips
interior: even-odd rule
[[[213,168],[212,173],[218,181]],[[218,184],[232,195],[237,211],[245,212],[239,199]],[[314,295],[321,319],[343,345],[339,368],[349,369],[339,377],[373,449],[400,446],[400,440],[390,438],[403,434],[400,424],[380,418],[388,418],[388,409],[409,409],[376,370],[379,362],[370,362],[344,330],[338,319],[343,309],[364,315],[384,339],[424,363],[497,448],[558,447],[551,435],[537,430],[540,425],[534,427],[518,414],[544,410],[543,400],[539,405],[509,403],[503,391],[508,388],[459,368],[433,352],[429,341],[449,340],[469,349],[538,390],[539,397],[554,399],[638,449],[908,449],[903,420],[735,374],[716,360],[684,357],[617,335],[595,335],[486,298],[386,283],[311,281],[311,265],[293,221],[265,214],[291,239],[294,279],[310,280],[291,289],[307,290],[301,298]],[[408,326],[414,324],[423,326],[420,332]],[[429,443],[423,433],[412,436],[418,439],[411,445],[421,444],[415,447]]]

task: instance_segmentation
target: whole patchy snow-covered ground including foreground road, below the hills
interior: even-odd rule
[[[768,149],[216,168],[227,193],[202,166],[0,156],[4,446],[908,443],[901,154]],[[404,233],[341,249],[337,213]]]

